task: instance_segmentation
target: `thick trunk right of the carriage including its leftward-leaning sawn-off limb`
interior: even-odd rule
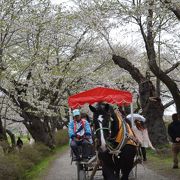
[[[127,70],[139,85],[140,104],[143,115],[147,120],[147,128],[153,145],[167,143],[166,128],[163,121],[164,108],[160,99],[155,96],[154,85],[127,59],[117,55],[113,55],[112,59],[120,68]]]

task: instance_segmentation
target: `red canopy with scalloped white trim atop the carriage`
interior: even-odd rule
[[[111,88],[96,87],[80,92],[68,98],[71,108],[78,108],[86,103],[107,102],[110,104],[129,105],[132,102],[132,94],[128,91],[121,91]]]

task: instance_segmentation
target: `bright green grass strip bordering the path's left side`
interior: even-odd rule
[[[53,155],[44,158],[37,165],[33,166],[31,170],[25,173],[25,177],[23,178],[23,180],[24,179],[26,180],[41,179],[41,176],[43,176],[46,173],[50,164],[57,158],[57,154],[63,153],[64,151],[67,150],[68,147],[69,147],[68,145],[64,145],[53,150]]]

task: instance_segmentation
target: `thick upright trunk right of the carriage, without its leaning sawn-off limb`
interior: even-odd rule
[[[163,121],[164,106],[159,97],[155,96],[156,91],[151,81],[144,81],[139,84],[140,102],[143,116],[150,140],[153,145],[167,143],[166,127]]]

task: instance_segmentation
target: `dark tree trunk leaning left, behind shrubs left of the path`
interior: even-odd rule
[[[21,109],[22,113],[20,116],[24,118],[23,123],[34,140],[36,142],[41,142],[50,148],[53,148],[55,146],[55,140],[51,122],[41,114],[39,116],[35,115],[34,112],[38,114],[38,109],[36,107],[31,106],[31,104],[26,101],[23,101],[23,99],[20,97],[16,99],[14,95],[10,94],[10,92],[8,92],[6,89],[2,87],[0,87],[0,89],[11,98],[14,104],[16,104]],[[19,90],[18,87],[16,87],[16,91],[17,94],[20,95],[22,91],[26,92],[26,89]],[[26,112],[26,110],[31,110],[31,112]]]

